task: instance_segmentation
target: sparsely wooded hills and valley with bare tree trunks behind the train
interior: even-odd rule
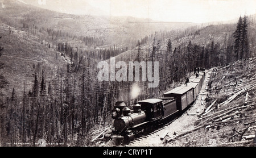
[[[115,101],[130,105],[135,99],[162,96],[184,84],[195,66],[208,69],[255,52],[255,16],[242,16],[241,26],[200,26],[130,17],[110,21],[16,1],[5,5],[0,9],[2,146],[30,146],[39,139],[90,145],[90,130],[111,123]],[[158,87],[148,88],[148,81],[98,81],[97,64],[111,57],[127,64],[159,61]],[[137,95],[131,95],[133,88]]]

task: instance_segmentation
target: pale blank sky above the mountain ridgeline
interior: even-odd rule
[[[26,1],[26,0],[20,0]],[[134,16],[163,22],[207,23],[256,14],[256,0],[30,0],[66,7],[69,14]],[[51,2],[50,2],[51,1]],[[52,2],[56,6],[53,6]],[[62,4],[62,5],[60,5]],[[90,9],[88,9],[90,7]],[[92,11],[98,9],[97,12]]]

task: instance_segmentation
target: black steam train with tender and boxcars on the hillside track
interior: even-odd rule
[[[163,98],[139,101],[131,109],[123,101],[117,101],[112,110],[112,138],[121,137],[122,143],[128,144],[135,136],[150,132],[156,124],[183,113],[196,100],[204,79],[205,69],[196,68],[185,85],[164,93]]]

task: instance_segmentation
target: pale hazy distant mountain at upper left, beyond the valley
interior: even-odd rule
[[[32,0],[3,1],[5,8],[0,9],[0,19],[13,27],[22,27],[20,22],[23,22],[28,26],[60,30],[76,36],[101,38],[106,43],[122,45],[130,45],[132,42],[153,34],[155,31],[183,30],[197,25],[195,23],[158,22],[129,16],[96,16],[97,13],[94,14],[94,11],[99,13],[102,11],[93,8],[86,2],[77,3],[78,9],[76,11],[82,10],[84,13],[88,11],[88,14],[91,15],[61,13],[61,10],[65,10],[65,12],[71,10],[69,8],[71,2],[76,4],[76,1],[67,1],[67,3],[60,4],[57,1],[46,1],[46,5],[40,5],[38,1]]]

